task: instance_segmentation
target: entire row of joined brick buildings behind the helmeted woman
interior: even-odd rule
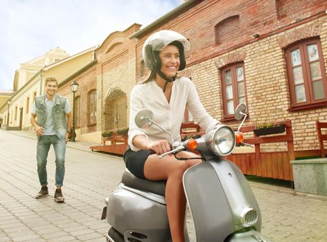
[[[246,102],[245,125],[291,120],[295,150],[318,149],[315,121],[327,120],[326,6],[326,0],[188,0],[141,30],[133,24],[113,32],[93,64],[61,86],[65,95],[70,82],[80,84],[78,138],[100,142],[101,131],[128,126],[130,91],[148,74],[143,43],[170,29],[191,42],[183,75],[213,117],[236,127],[233,109]]]

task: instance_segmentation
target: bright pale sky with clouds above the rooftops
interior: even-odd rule
[[[69,55],[134,23],[144,28],[181,0],[0,0],[0,90],[19,64],[60,47]]]

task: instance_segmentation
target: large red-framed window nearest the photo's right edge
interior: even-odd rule
[[[285,50],[293,110],[327,101],[327,83],[320,40],[307,39]]]

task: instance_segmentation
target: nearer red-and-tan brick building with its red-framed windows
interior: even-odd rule
[[[233,109],[246,102],[245,125],[292,120],[295,150],[318,149],[315,121],[327,120],[326,6],[322,0],[188,0],[132,36],[136,77],[143,75],[145,39],[175,30],[191,42],[186,72],[211,115],[235,127]]]

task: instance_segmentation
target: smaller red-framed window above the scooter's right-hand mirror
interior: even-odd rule
[[[238,104],[247,104],[244,64],[236,63],[222,68],[222,99],[224,118],[234,118]]]

